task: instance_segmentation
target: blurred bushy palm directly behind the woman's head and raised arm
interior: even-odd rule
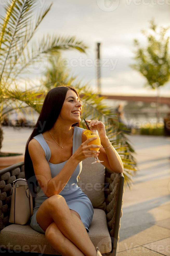
[[[95,94],[91,90],[88,83],[83,83],[82,85],[81,80],[75,82],[77,77],[71,76],[68,69],[62,67],[62,65],[57,65],[56,67],[55,63],[58,63],[59,56],[61,55],[58,53],[55,55],[53,54],[53,58],[51,56],[51,65],[46,70],[44,78],[41,79],[41,86],[39,87],[38,92],[35,89],[23,92],[15,88],[15,90],[9,92],[10,97],[23,104],[26,103],[27,106],[30,106],[37,113],[40,113],[45,95],[50,89],[60,85],[74,86],[81,96],[83,118],[95,118],[101,120],[105,124],[107,136],[121,156],[124,165],[123,174],[125,176],[125,184],[130,188],[132,185],[132,176],[135,175],[137,168],[136,160],[133,156],[135,153],[134,149],[130,146],[125,135],[125,132],[128,129],[124,124],[119,123],[119,119],[112,108],[102,103],[105,97],[98,97],[98,94]],[[26,107],[26,105],[24,106]],[[80,126],[87,129],[84,120],[81,121]]]

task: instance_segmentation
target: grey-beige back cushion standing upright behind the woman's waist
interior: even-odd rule
[[[88,157],[82,161],[82,171],[77,185],[90,199],[93,208],[106,210],[104,197],[105,166],[94,162],[94,157]]]

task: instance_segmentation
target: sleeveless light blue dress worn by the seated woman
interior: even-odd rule
[[[74,152],[80,147],[82,143],[82,131],[83,128],[74,127],[74,133],[73,133],[73,154]],[[66,162],[62,162],[60,164],[52,164],[49,162],[49,159],[51,157],[50,148],[45,141],[42,133],[36,135],[34,137],[36,139],[41,147],[44,149],[46,159],[49,163],[50,170],[51,170],[51,177],[54,178],[64,167]],[[71,175],[68,183],[63,188],[63,190],[59,193],[59,195],[63,196],[67,202],[67,205],[69,206],[69,209],[76,211],[79,213],[81,221],[83,222],[87,232],[89,233],[89,226],[91,224],[91,221],[93,219],[94,209],[91,204],[90,199],[82,189],[77,185],[78,182],[78,176],[81,173],[82,170],[82,161],[77,165],[75,168],[75,171]],[[44,202],[48,197],[43,193],[40,185],[38,185],[38,193],[35,197],[35,207],[33,209],[33,215],[31,216],[31,222],[30,226],[32,229],[45,234],[44,230],[39,226],[36,220],[36,213],[42,202]]]

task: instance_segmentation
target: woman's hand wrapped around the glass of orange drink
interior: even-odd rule
[[[78,162],[83,161],[84,159],[92,156],[97,156],[99,153],[97,153],[96,150],[90,150],[90,148],[100,148],[100,145],[87,145],[90,141],[94,141],[97,139],[97,137],[89,138],[86,141],[84,141],[80,147],[75,151],[75,153],[72,155],[74,159],[76,159]],[[98,147],[99,146],[99,147]]]

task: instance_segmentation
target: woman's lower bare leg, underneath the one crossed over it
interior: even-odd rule
[[[84,254],[62,234],[55,222],[52,222],[45,230],[45,238],[62,256],[84,256]],[[56,243],[56,241],[58,243]]]

